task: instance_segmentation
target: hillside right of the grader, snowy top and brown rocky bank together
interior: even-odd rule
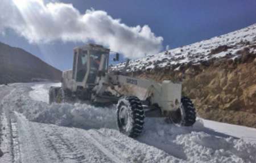
[[[183,94],[200,117],[256,128],[255,57],[256,24],[137,59],[127,71],[139,78],[182,81]]]

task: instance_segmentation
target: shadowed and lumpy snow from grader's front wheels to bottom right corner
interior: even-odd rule
[[[162,118],[147,118],[138,138],[184,162],[254,162],[256,144],[204,127],[197,120],[193,127],[178,127]]]

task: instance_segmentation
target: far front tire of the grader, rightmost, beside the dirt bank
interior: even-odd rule
[[[192,101],[183,96],[181,98],[181,103],[184,111],[184,117],[181,119],[181,126],[192,126],[196,122],[196,109],[192,103]]]

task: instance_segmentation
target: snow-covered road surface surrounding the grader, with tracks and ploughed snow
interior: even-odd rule
[[[256,130],[198,119],[177,127],[146,118],[131,139],[114,106],[48,105],[52,83],[0,87],[0,162],[256,162]]]

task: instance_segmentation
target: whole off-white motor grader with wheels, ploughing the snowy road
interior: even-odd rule
[[[73,53],[73,68],[63,72],[61,87],[49,89],[50,104],[76,100],[100,106],[115,104],[119,131],[132,138],[142,133],[145,116],[166,117],[180,126],[195,123],[195,108],[188,97],[181,96],[181,83],[157,83],[126,75],[129,60],[122,71],[110,71],[110,49],[101,45],[84,45]],[[114,60],[118,59],[117,53]],[[118,91],[126,85],[146,90],[144,98]]]

